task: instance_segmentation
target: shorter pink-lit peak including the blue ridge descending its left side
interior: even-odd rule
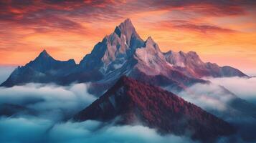
[[[202,79],[186,77],[174,70],[151,37],[143,46],[135,49],[123,66],[106,74],[104,80],[115,82],[123,75],[161,87],[168,86],[175,91],[181,91],[194,83],[205,83]]]

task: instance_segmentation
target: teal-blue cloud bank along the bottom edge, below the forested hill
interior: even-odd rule
[[[0,119],[0,142],[193,142],[186,137],[174,135],[161,136],[154,129],[143,126],[102,126],[103,123],[96,121],[65,122],[52,124],[47,119],[37,118],[1,118]],[[100,128],[100,129],[99,129]]]

